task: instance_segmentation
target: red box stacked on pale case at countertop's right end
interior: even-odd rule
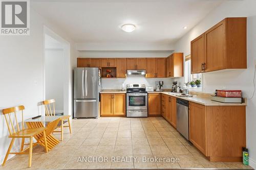
[[[241,90],[215,90],[211,96],[212,101],[221,103],[243,103]]]

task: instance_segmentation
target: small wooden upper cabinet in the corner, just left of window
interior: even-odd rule
[[[183,53],[173,53],[166,59],[166,77],[183,77]]]

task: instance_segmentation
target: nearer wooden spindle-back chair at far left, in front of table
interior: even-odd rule
[[[3,110],[3,114],[5,116],[8,131],[9,131],[9,134],[10,134],[9,138],[12,138],[11,143],[9,145],[9,148],[7,150],[4,162],[3,162],[3,166],[5,165],[9,154],[29,154],[29,167],[31,167],[32,148],[33,148],[33,145],[35,145],[35,144],[44,143],[46,152],[48,152],[46,132],[45,132],[46,128],[41,127],[41,128],[25,129],[24,119],[23,119],[23,110],[24,109],[25,109],[24,106],[17,106],[17,107],[11,107],[11,108],[7,108],[7,109]],[[17,115],[16,115],[17,111],[22,112],[22,130],[19,129],[19,123],[18,123]],[[14,116],[12,116],[13,113],[14,113]],[[14,118],[14,121],[12,120],[12,117]],[[14,127],[15,124],[16,124],[16,130],[17,131],[15,130],[15,127]],[[37,140],[36,143],[33,143],[33,137],[35,137],[35,136],[40,136],[40,138],[39,138],[39,140]],[[21,143],[21,146],[20,146],[20,152],[10,152],[11,149],[12,149],[13,142],[16,138],[22,138],[22,143]],[[29,143],[24,143],[25,138],[29,138],[30,142]],[[24,149],[24,145],[29,145],[29,147]],[[29,150],[29,153],[25,152],[27,150]]]

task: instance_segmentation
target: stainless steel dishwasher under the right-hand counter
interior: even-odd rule
[[[188,140],[188,101],[177,98],[177,130]]]

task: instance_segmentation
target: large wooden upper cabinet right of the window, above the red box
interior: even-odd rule
[[[191,63],[192,73],[247,68],[246,17],[225,18],[191,41]]]

